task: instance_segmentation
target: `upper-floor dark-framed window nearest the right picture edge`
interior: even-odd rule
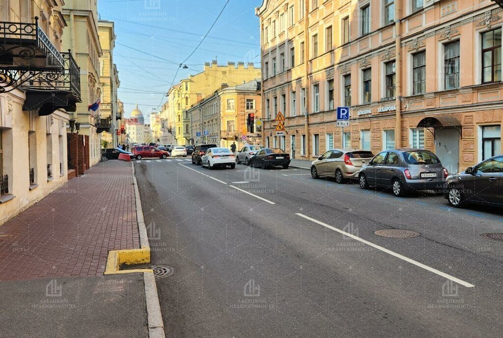
[[[501,81],[501,28],[482,34],[482,83]]]

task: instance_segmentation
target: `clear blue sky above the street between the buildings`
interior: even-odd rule
[[[119,100],[126,117],[135,104],[148,115],[166,101],[172,83],[203,70],[205,62],[256,62],[260,66],[260,23],[255,8],[262,0],[99,0],[101,20],[114,21],[114,62],[119,71]],[[189,69],[179,67],[185,61]],[[178,74],[177,74],[177,70]],[[175,77],[176,75],[176,77]]]

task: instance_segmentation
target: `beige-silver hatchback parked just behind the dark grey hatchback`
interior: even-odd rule
[[[311,177],[334,177],[341,184],[346,180],[358,178],[361,167],[368,163],[374,154],[362,149],[331,149],[311,163]]]

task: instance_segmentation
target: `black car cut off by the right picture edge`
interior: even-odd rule
[[[453,207],[465,203],[503,205],[503,155],[486,159],[468,167],[463,173],[447,178],[445,198]]]

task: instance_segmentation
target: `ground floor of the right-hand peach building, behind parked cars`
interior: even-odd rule
[[[292,158],[308,160],[330,148],[362,148],[373,153],[398,147],[425,148],[438,155],[449,173],[501,153],[500,108],[407,112],[400,117],[399,136],[394,112],[363,112],[352,118],[349,127],[337,127],[335,113],[309,116],[307,125],[304,117],[287,118],[284,136],[277,136],[276,123],[268,121],[263,142],[286,150]]]

